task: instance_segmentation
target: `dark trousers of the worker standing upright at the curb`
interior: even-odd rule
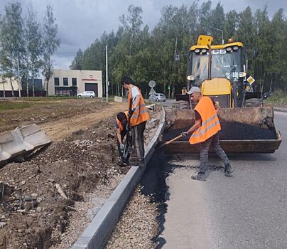
[[[144,159],[144,129],[146,129],[146,122],[131,127],[133,144],[138,159]]]

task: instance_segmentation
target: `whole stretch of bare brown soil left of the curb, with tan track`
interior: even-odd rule
[[[36,123],[53,140],[26,161],[0,169],[0,248],[72,245],[97,213],[87,215],[89,208],[99,209],[129,170],[116,164],[114,132],[114,117],[126,103],[43,102],[0,112],[1,132]],[[147,124],[146,139],[159,122],[158,112],[150,115],[156,121]]]

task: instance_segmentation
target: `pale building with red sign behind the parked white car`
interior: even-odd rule
[[[94,91],[102,97],[102,71],[54,69],[48,85],[48,95],[70,95]]]

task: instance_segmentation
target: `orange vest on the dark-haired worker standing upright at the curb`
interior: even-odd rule
[[[132,88],[137,88],[135,85]],[[141,91],[139,88],[137,88],[139,91],[139,95],[141,96],[139,100],[139,105],[136,107],[134,110],[134,114],[131,116],[130,124],[131,126],[136,126],[138,124],[141,124],[142,122],[145,122],[146,120],[149,120],[149,115],[148,115],[148,110],[146,109],[146,104],[144,103],[144,98],[141,95]],[[131,108],[134,108],[134,103],[132,103],[132,97],[131,97],[131,90],[129,90],[129,95],[128,95],[128,105]]]

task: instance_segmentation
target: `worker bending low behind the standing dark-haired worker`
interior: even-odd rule
[[[126,136],[128,130],[127,130],[127,124],[128,124],[128,111],[125,112],[119,112],[117,114],[117,120],[116,120],[116,129],[117,129],[117,146],[119,151],[119,166],[127,166],[129,165],[129,152],[127,155],[124,155],[124,138],[129,139],[128,136]],[[129,149],[129,148],[126,148]]]

